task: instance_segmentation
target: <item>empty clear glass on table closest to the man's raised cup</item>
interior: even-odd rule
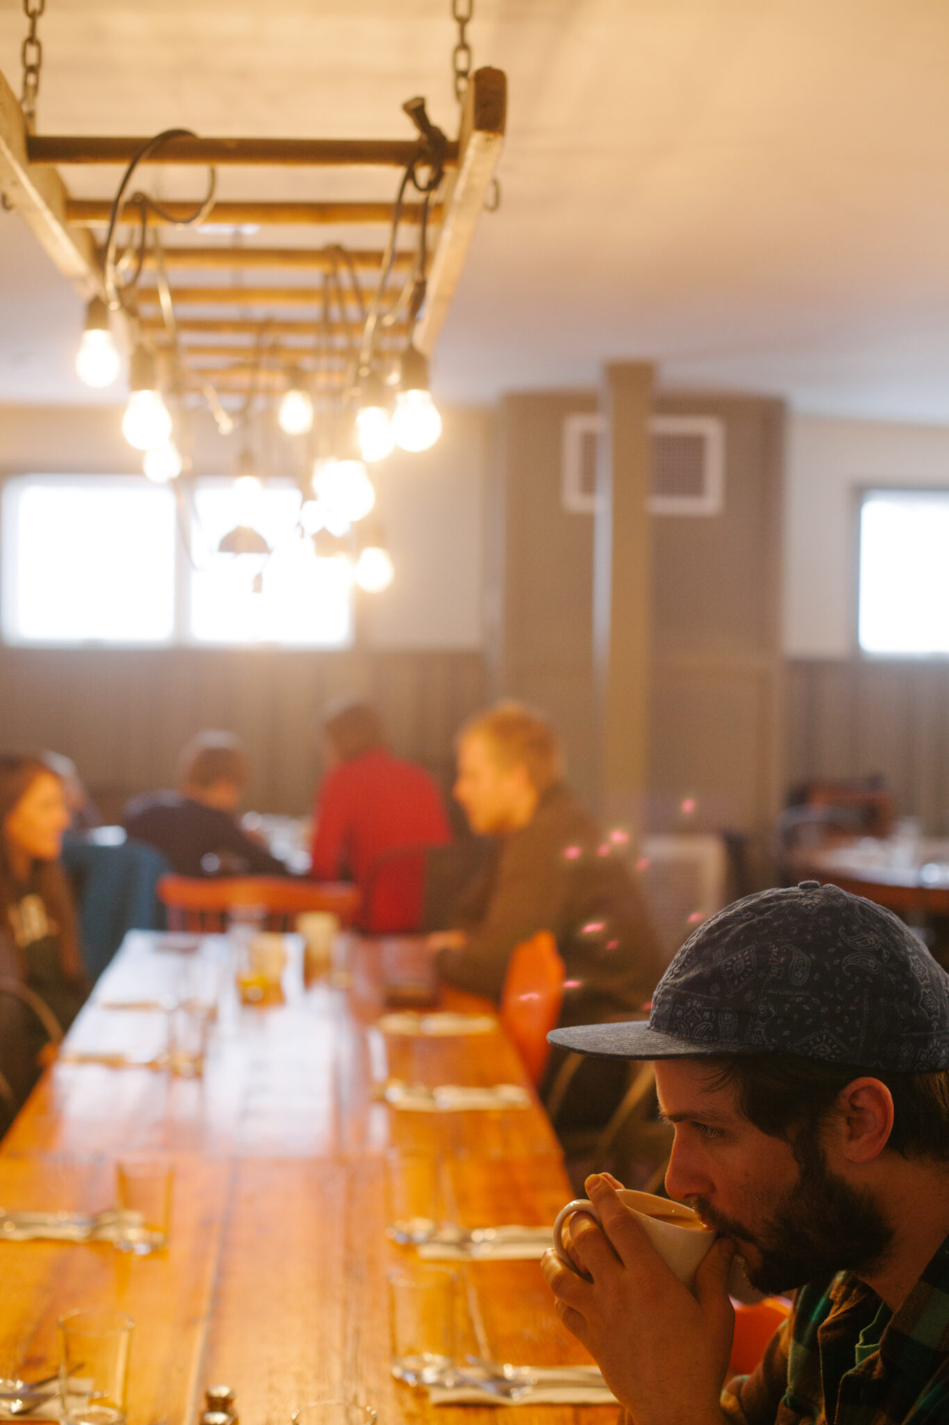
[[[408,1385],[435,1385],[455,1358],[458,1274],[417,1267],[388,1274],[393,1375]]]

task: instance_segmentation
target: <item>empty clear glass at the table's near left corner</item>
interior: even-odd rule
[[[134,1324],[124,1311],[67,1311],[60,1317],[64,1425],[124,1425]]]

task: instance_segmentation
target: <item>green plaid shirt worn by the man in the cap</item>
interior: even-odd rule
[[[757,1371],[728,1381],[724,1418],[736,1425],[949,1425],[949,1237],[886,1322],[879,1348],[857,1365],[859,1335],[881,1305],[852,1273],[804,1287]]]

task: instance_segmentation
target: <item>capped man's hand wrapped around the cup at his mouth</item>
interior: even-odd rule
[[[565,1227],[565,1245],[590,1281],[556,1253],[544,1257],[556,1312],[636,1425],[720,1425],[719,1395],[734,1332],[727,1290],[734,1244],[713,1244],[693,1294],[619,1200],[619,1186],[609,1174],[589,1177],[586,1191],[603,1228],[586,1213]]]

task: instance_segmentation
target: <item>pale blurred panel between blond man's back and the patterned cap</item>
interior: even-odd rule
[[[643,836],[636,872],[669,962],[696,926],[727,901],[724,841],[703,832]]]

